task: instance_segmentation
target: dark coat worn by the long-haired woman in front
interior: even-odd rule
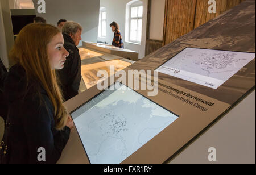
[[[6,77],[4,94],[9,110],[7,123],[10,123],[8,135],[5,132],[5,138],[9,138],[9,163],[56,163],[70,129],[67,126],[63,131],[55,129],[55,112],[43,87],[35,80],[28,82],[26,71],[16,64]],[[39,148],[45,149],[46,161],[38,161],[42,153]]]

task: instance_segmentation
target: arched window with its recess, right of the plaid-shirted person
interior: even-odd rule
[[[143,17],[143,3],[142,1],[133,0],[126,5],[126,30],[129,33],[129,42],[141,44],[142,38],[142,17]]]

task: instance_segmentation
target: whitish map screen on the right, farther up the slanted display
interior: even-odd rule
[[[255,53],[185,48],[156,70],[217,89],[254,58]]]

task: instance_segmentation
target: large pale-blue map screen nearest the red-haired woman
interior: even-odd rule
[[[90,163],[121,163],[178,118],[120,85],[71,114]]]

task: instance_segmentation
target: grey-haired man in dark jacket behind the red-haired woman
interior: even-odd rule
[[[65,101],[78,94],[81,81],[81,57],[77,45],[81,40],[82,27],[79,23],[67,21],[63,28],[64,48],[69,52],[64,68],[57,70],[60,87]]]

